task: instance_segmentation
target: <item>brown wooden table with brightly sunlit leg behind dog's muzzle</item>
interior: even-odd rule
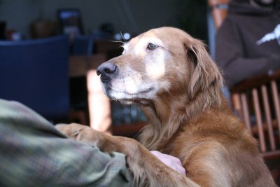
[[[86,77],[90,127],[102,132],[110,132],[112,123],[110,99],[104,94],[100,78],[96,73],[97,67],[105,61],[105,54],[70,56],[69,76],[70,78]]]

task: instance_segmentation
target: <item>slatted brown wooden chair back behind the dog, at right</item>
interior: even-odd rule
[[[233,111],[260,142],[264,158],[280,157],[280,71],[254,76],[230,88]]]

